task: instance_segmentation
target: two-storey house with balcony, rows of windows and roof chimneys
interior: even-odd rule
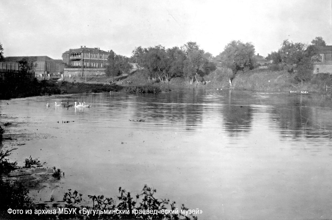
[[[62,62],[66,68],[105,68],[109,51],[100,48],[81,46],[78,49],[69,49],[62,54]]]

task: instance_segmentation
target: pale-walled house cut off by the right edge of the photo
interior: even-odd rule
[[[319,47],[314,59],[313,73],[332,74],[332,45]]]

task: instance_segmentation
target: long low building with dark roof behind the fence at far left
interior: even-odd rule
[[[61,60],[54,60],[48,56],[19,56],[5,57],[0,62],[2,70],[20,70],[22,63],[27,63],[35,71],[35,75],[60,75],[63,73],[64,64]]]

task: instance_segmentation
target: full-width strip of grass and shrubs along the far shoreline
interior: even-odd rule
[[[331,99],[331,91],[326,86],[332,85],[332,75],[319,73],[310,80],[298,83],[294,73],[287,71],[272,71],[269,69],[254,69],[238,71],[232,82],[229,80],[231,71],[218,67],[205,76],[201,82],[191,83],[184,77],[176,77],[168,82],[159,79],[148,80],[144,71],[138,70],[134,74],[114,79],[106,76],[90,77],[85,82],[84,77],[73,77],[64,80],[42,80],[36,78],[24,82],[0,82],[0,99],[22,98],[29,96],[81,94],[100,92],[128,92],[128,93],[158,93],[181,88],[231,89],[250,90],[256,92],[290,92],[307,91],[318,93]]]

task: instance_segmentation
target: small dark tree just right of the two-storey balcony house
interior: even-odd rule
[[[114,77],[121,74],[128,74],[131,68],[132,66],[129,64],[128,57],[118,55],[113,50],[110,51],[105,71],[106,76],[113,77],[114,79]]]

